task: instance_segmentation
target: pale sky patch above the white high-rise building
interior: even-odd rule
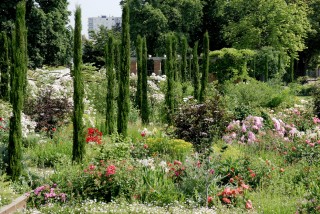
[[[82,34],[88,38],[88,18],[101,15],[121,17],[120,0],[68,0],[70,24],[74,27],[74,12],[76,5],[80,5],[82,13]]]

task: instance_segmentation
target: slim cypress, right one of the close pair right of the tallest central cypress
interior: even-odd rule
[[[149,105],[148,105],[148,73],[147,73],[147,40],[144,37],[142,43],[142,93],[141,93],[141,119],[143,124],[149,123]]]

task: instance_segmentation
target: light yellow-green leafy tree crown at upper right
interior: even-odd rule
[[[285,0],[231,0],[224,2],[224,38],[235,48],[271,46],[297,56],[305,49],[310,30],[305,4]]]

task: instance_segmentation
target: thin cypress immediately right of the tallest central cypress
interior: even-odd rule
[[[137,80],[137,92],[136,92],[136,106],[138,107],[138,109],[141,110],[141,105],[142,105],[142,98],[141,98],[141,90],[142,90],[142,38],[140,35],[138,35],[137,37],[137,76],[138,76],[138,80]]]

